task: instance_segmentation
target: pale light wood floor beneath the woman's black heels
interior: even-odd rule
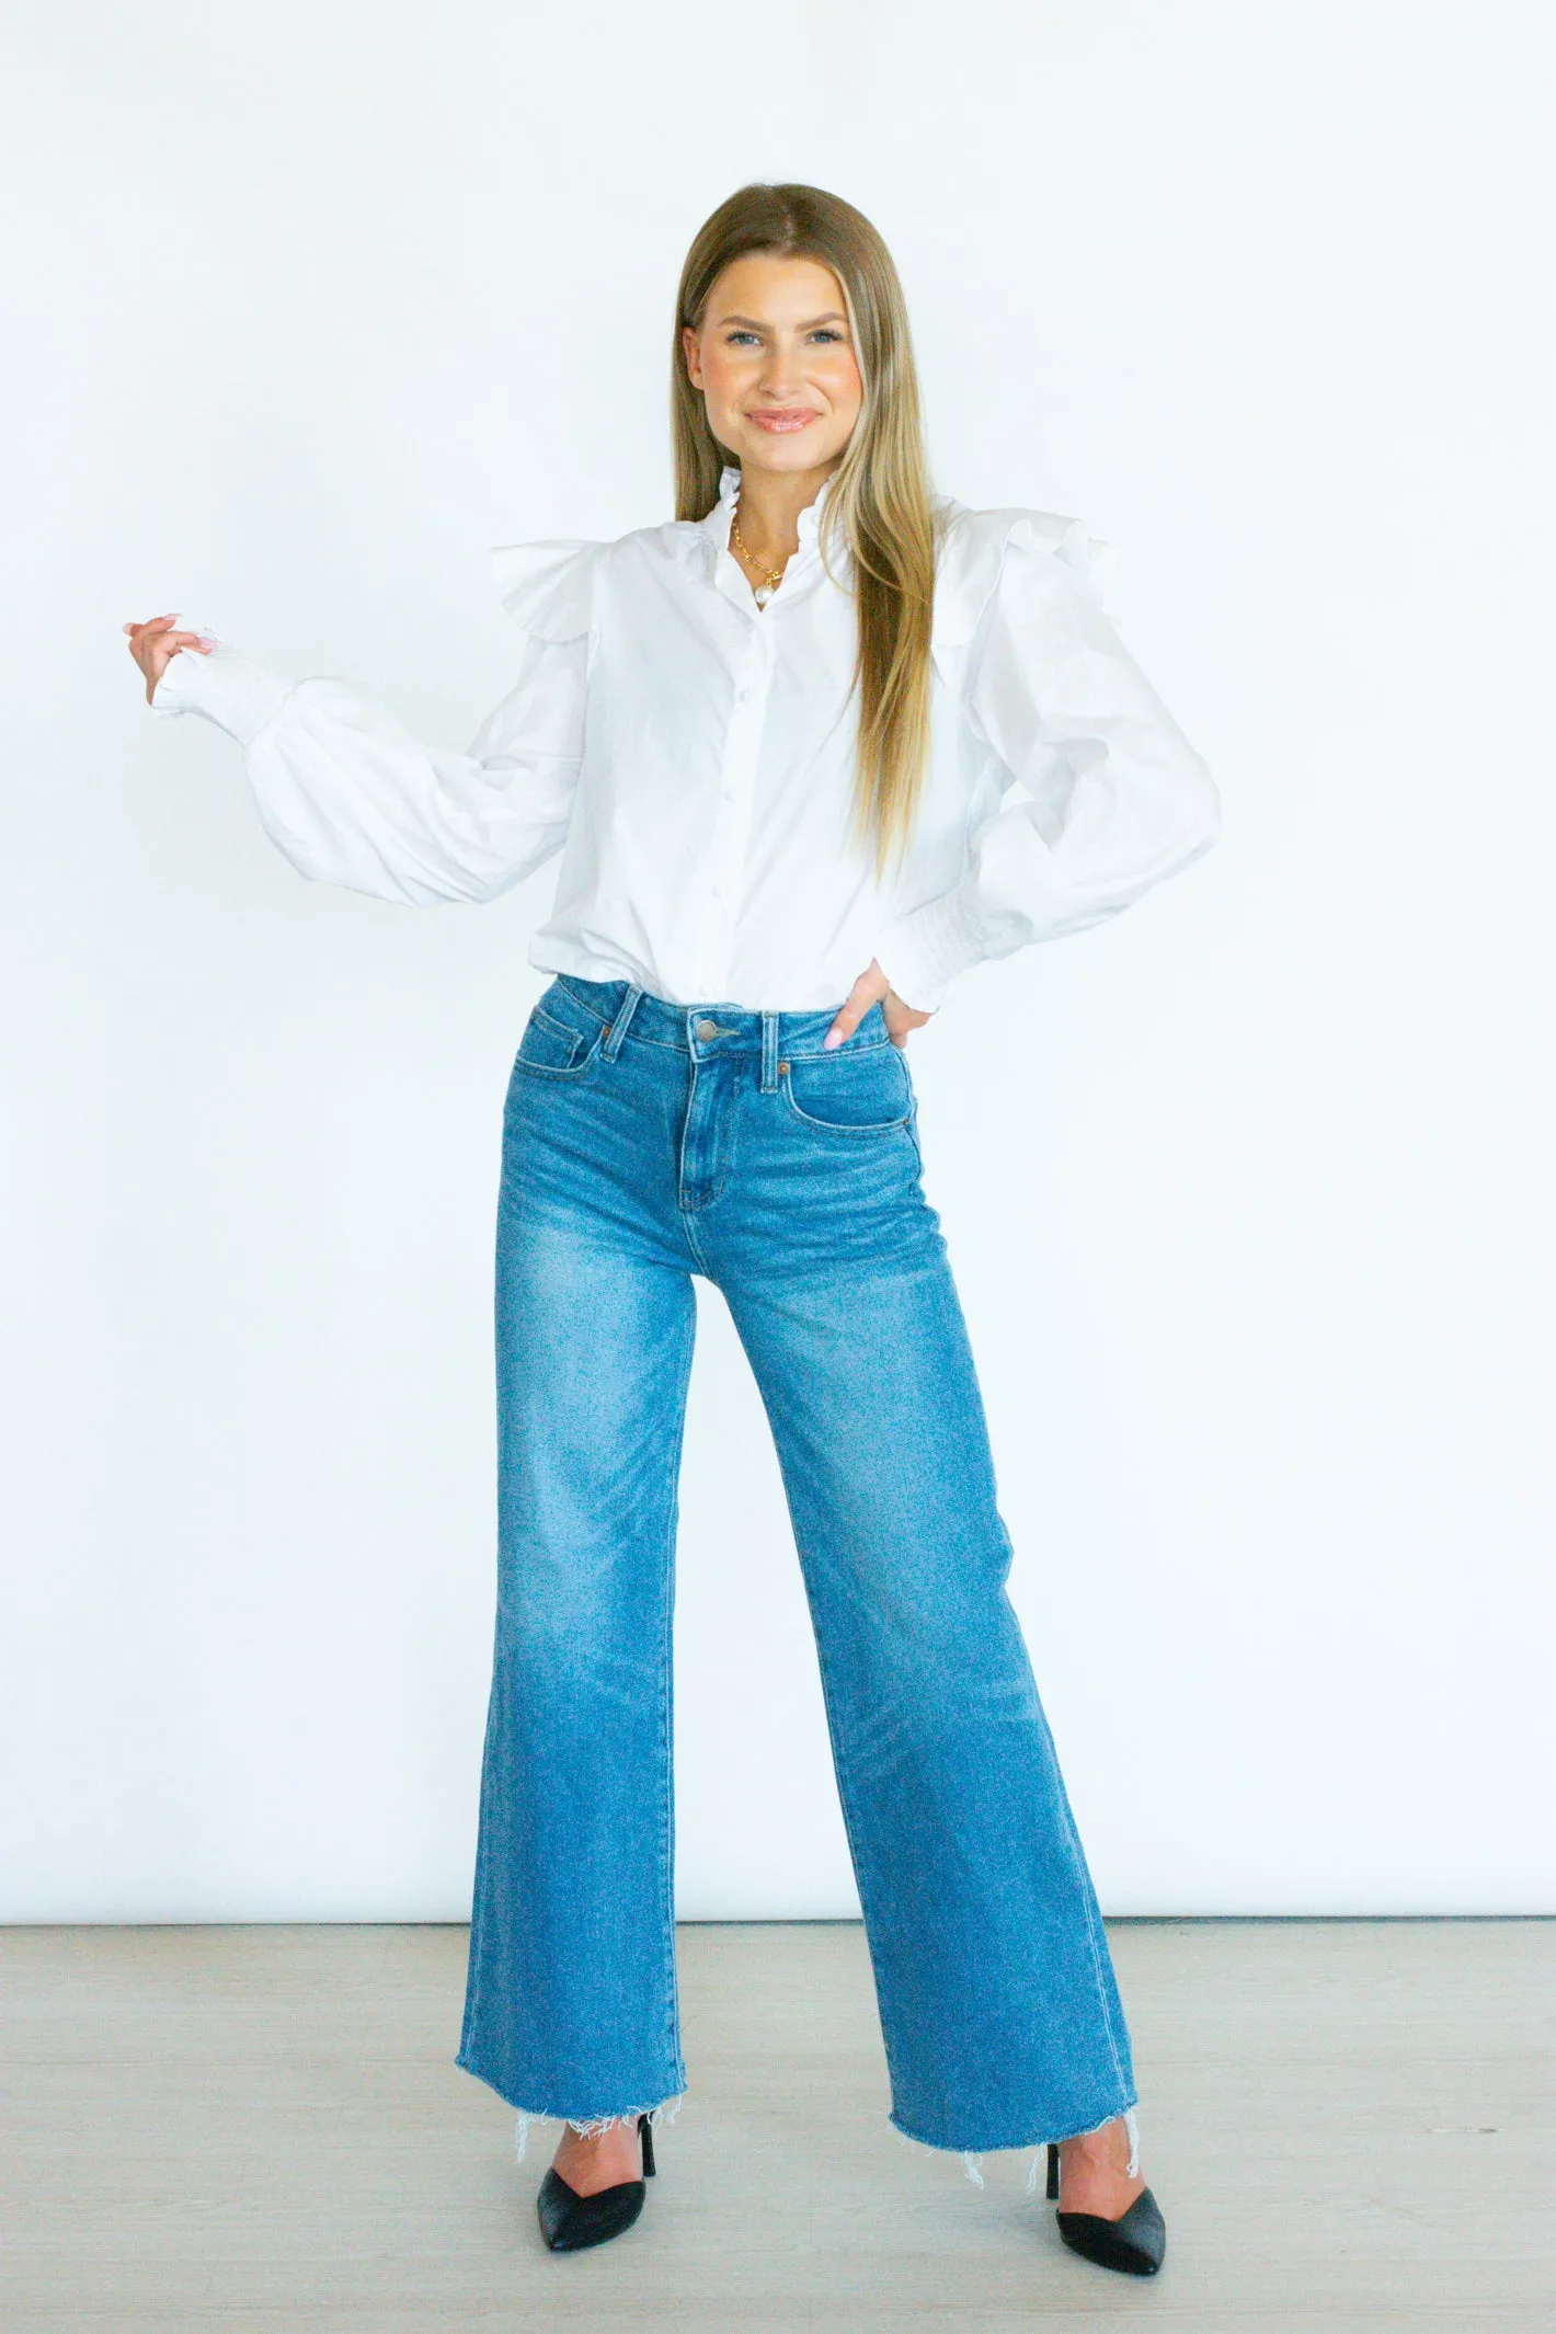
[[[5,2334],[1556,2327],[1556,1923],[1120,1923],[1171,2252],[1061,2250],[1026,2157],[884,2124],[854,1926],[686,1928],[691,2094],[628,2236],[553,2257],[457,2073],[455,1928],[0,1930]]]

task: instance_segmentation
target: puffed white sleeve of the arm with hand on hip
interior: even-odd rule
[[[935,584],[935,651],[966,651],[963,703],[1003,766],[1003,801],[961,880],[893,917],[877,959],[935,1011],[956,973],[1117,915],[1220,833],[1199,754],[1124,649],[1108,553],[1073,518],[959,511]]]

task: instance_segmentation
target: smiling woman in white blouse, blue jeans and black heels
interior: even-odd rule
[[[1066,2241],[1150,2273],[1129,2035],[1005,1599],[905,1043],[977,959],[1197,859],[1218,796],[1082,530],[931,497],[900,285],[851,205],[744,187],[702,226],[674,457],[672,523],[495,553],[525,649],[469,754],[173,616],[126,626],[154,710],[245,745],[303,875],[481,901],[562,859],[504,1118],[460,2066],[520,2147],[562,2119],[553,2248],[637,2217],[684,2089],[670,1610],[700,1272],[784,1468],[891,2119],[968,2157],[1045,2143]]]

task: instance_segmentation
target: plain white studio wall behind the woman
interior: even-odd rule
[[[877,219],[940,483],[1120,546],[1225,791],[912,1053],[1103,1900],[1551,1909],[1547,12],[63,0],[9,49],[0,1912],[467,1909],[555,871],[303,885],[119,626],[469,742],[488,544],[667,513],[679,259],[754,175]],[[851,1912],[702,1298],[681,1909]]]

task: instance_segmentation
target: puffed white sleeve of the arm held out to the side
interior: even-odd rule
[[[301,875],[415,908],[495,899],[567,833],[600,548],[492,548],[525,644],[513,689],[464,754],[420,745],[348,682],[285,682],[222,640],[170,658],[152,712],[196,712],[238,740],[259,819]],[[180,619],[180,630],[196,626]]]

